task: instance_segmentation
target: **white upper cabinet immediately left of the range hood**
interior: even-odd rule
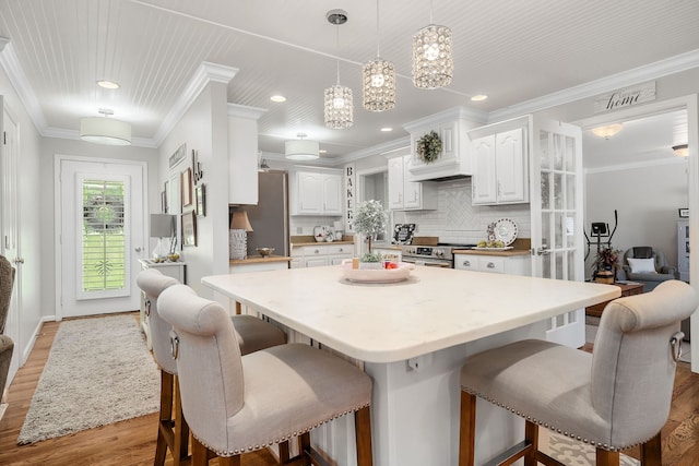
[[[389,208],[428,211],[437,208],[437,187],[431,182],[410,181],[411,156],[389,158]]]

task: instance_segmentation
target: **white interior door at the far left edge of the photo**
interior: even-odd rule
[[[10,300],[10,309],[5,321],[4,334],[14,342],[14,351],[10,361],[8,381],[12,381],[14,373],[20,368],[20,359],[24,343],[20,339],[20,309],[22,309],[22,246],[20,235],[20,200],[17,198],[17,126],[10,113],[3,109],[2,126],[3,143],[0,151],[2,156],[2,246],[0,251],[15,268],[14,287]],[[9,383],[8,383],[9,386]],[[0,398],[2,393],[0,393]]]

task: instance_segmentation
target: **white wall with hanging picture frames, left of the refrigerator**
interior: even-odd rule
[[[161,176],[158,194],[151,198],[152,213],[161,212],[159,191],[171,172],[191,168],[192,150],[199,153],[206,186],[206,216],[197,217],[197,246],[187,246],[181,252],[187,262],[187,284],[199,295],[213,298],[213,291],[201,285],[201,277],[228,272],[228,116],[226,85],[208,84],[185,116],[158,147]],[[187,144],[185,160],[173,169],[169,157]],[[193,190],[192,190],[193,192]],[[183,207],[190,212],[193,206]],[[178,228],[179,227],[178,223]],[[178,244],[178,248],[180,244]]]

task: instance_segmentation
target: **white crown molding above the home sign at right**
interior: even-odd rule
[[[699,49],[680,53],[675,57],[638,67],[621,73],[613,74],[579,86],[525,100],[488,115],[489,122],[507,120],[521,115],[533,113],[571,101],[594,97],[619,87],[626,87],[644,81],[656,80],[670,74],[687,71],[699,67]]]

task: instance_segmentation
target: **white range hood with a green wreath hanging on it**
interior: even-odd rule
[[[449,180],[473,175],[469,130],[477,127],[481,116],[470,115],[461,107],[442,111],[403,126],[411,133],[411,181]],[[420,138],[435,131],[441,140],[442,151],[436,160],[425,162],[417,154]]]

